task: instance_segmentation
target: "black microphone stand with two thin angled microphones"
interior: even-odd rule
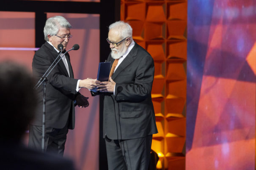
[[[70,49],[70,50],[77,50],[77,47],[74,48],[74,46]],[[79,48],[79,46],[78,46]],[[63,48],[59,48],[61,49],[61,53],[62,53],[62,49]],[[65,56],[65,54],[67,52],[69,52],[70,50],[67,50],[63,56]],[[61,53],[59,53],[59,55],[56,57],[56,59],[52,62],[52,64],[50,65],[50,67],[47,69],[47,71],[44,73],[44,75],[40,78],[40,80],[36,83],[34,89],[38,89],[39,86],[43,83],[44,85],[44,95],[43,95],[43,118],[42,118],[42,152],[44,152],[44,129],[45,129],[45,99],[46,99],[46,84],[48,82],[47,80],[47,76],[50,74],[50,72],[52,72],[52,69],[54,69],[54,67],[58,64],[59,61],[61,61],[61,59],[63,58],[63,56],[61,56],[61,58],[55,63],[55,61],[58,59],[58,57],[61,55]],[[51,68],[51,66],[55,63],[55,65],[52,67],[52,69],[49,71],[49,69]],[[49,72],[48,72],[49,71]],[[48,72],[48,73],[47,73]],[[46,76],[45,76],[46,74]]]

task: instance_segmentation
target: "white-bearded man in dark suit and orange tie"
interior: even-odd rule
[[[110,80],[97,86],[104,94],[103,134],[109,170],[147,170],[152,134],[157,133],[151,88],[154,61],[132,40],[132,27],[117,21],[107,42]],[[92,92],[92,95],[96,95]]]

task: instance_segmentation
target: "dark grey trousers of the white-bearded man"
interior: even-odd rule
[[[148,170],[152,135],[129,140],[105,136],[108,170]]]

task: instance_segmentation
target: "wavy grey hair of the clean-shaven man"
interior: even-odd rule
[[[60,28],[70,29],[72,26],[63,16],[53,16],[46,20],[44,26],[44,40],[49,41],[48,35],[56,35]]]

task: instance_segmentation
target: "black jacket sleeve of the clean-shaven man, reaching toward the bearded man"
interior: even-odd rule
[[[41,78],[41,76],[50,67],[53,60],[49,58],[51,53],[40,51],[36,53],[33,58],[33,72],[37,74],[36,77]],[[55,88],[63,89],[69,93],[76,93],[77,79],[67,77],[61,73],[60,66],[55,66],[52,72],[47,76],[49,83]]]

